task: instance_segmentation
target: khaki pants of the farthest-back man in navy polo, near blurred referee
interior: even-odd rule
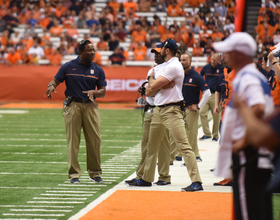
[[[219,138],[219,125],[221,114],[214,114],[215,108],[215,93],[212,93],[208,102],[200,109],[200,120],[203,133],[209,137],[211,137],[211,132],[209,130],[208,123],[208,111],[211,110],[213,116],[213,127],[212,127],[212,137]],[[221,112],[221,111],[220,111]]]

